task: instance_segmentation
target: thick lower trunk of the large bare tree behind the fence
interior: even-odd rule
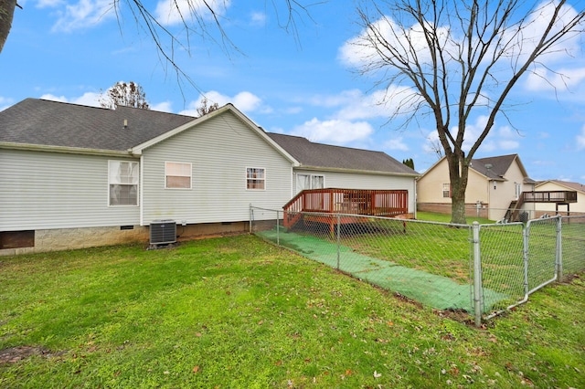
[[[447,160],[451,179],[451,223],[464,225],[467,223],[465,217],[465,190],[467,189],[469,163],[463,152],[459,154],[452,153]]]

